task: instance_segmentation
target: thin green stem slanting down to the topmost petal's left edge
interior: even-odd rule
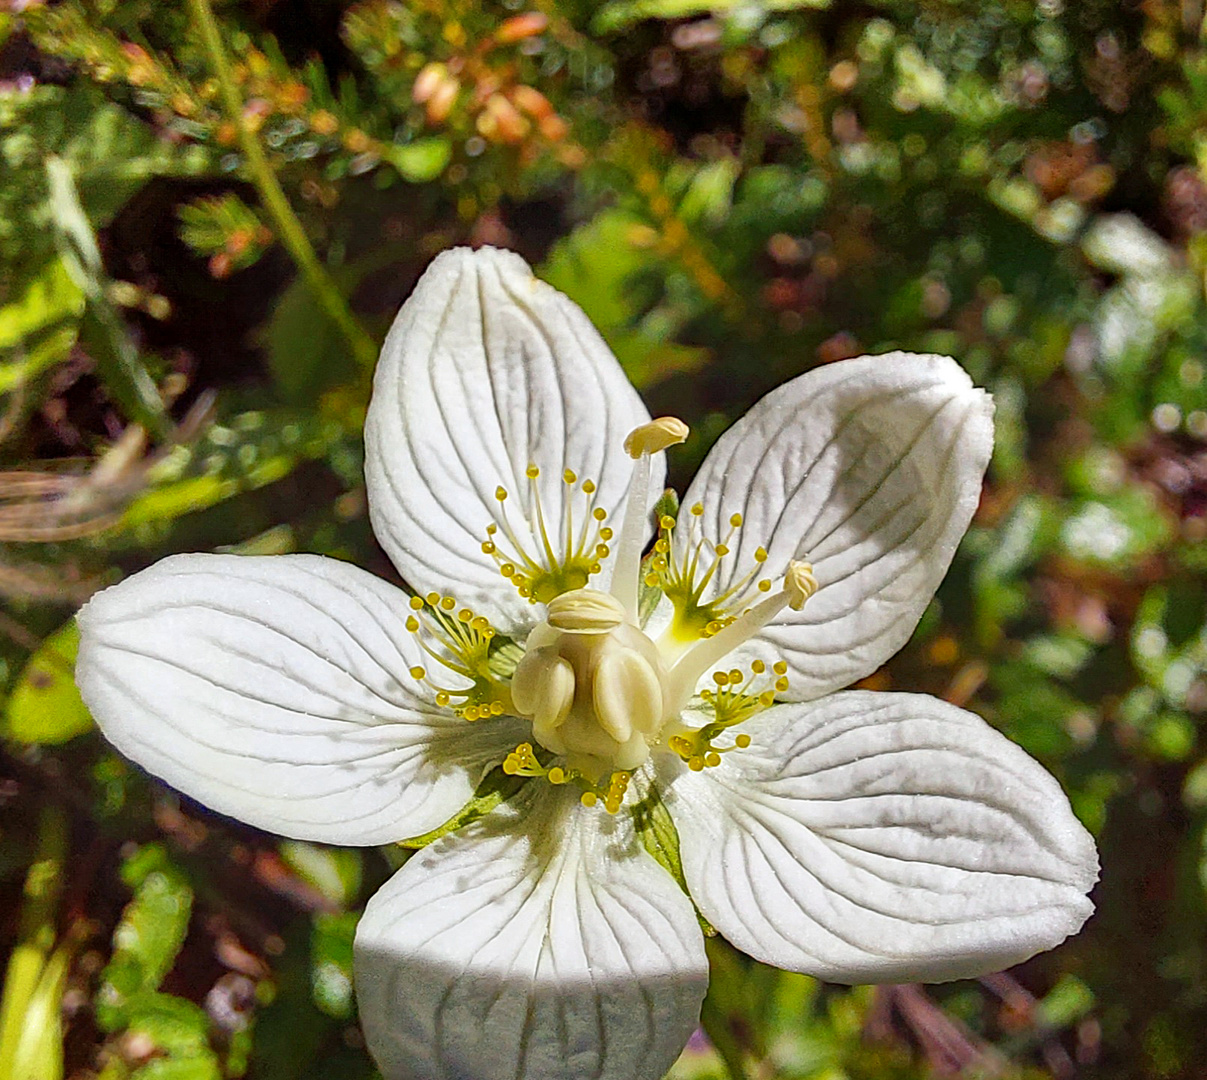
[[[310,239],[307,237],[305,229],[302,228],[302,222],[298,221],[293,208],[290,205],[290,200],[285,197],[280,181],[276,179],[276,174],[273,171],[272,165],[268,164],[264,147],[261,146],[255,132],[244,122],[243,98],[231,74],[231,65],[227,62],[222,35],[218,33],[217,19],[214,17],[214,8],[210,6],[210,0],[189,0],[189,6],[193,8],[193,16],[202,31],[205,52],[210,58],[210,65],[218,81],[218,88],[222,92],[222,104],[226,107],[227,116],[239,133],[239,142],[247,162],[247,170],[251,173],[252,183],[256,185],[260,199],[276,226],[276,234],[281,238],[286,249],[288,249],[293,262],[297,263],[302,276],[310,285],[323,310],[331,316],[332,321],[339,327],[348,343],[352,346],[352,354],[356,356],[357,363],[366,370],[371,370],[377,363],[377,345],[365,332],[365,327],[360,325],[356,316],[352,315],[348,302],[336,286],[336,282],[331,280],[331,275],[319,261],[319,256],[315,255]]]

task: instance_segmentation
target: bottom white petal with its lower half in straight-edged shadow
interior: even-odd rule
[[[658,1080],[706,985],[690,901],[626,816],[566,789],[414,856],[356,932],[386,1080]]]

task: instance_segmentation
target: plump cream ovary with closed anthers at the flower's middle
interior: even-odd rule
[[[548,603],[512,676],[532,737],[593,783],[649,757],[666,716],[658,648],[607,592],[575,589]]]

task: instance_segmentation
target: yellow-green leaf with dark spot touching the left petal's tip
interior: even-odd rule
[[[75,684],[80,629],[72,619],[29,659],[5,707],[4,734],[17,742],[57,746],[92,730]]]

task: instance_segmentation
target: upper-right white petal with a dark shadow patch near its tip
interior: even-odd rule
[[[980,497],[993,448],[989,395],[945,356],[841,361],[764,397],[709,454],[683,500],[704,535],[741,530],[711,595],[754,564],[814,565],[820,588],[760,635],[787,660],[793,701],[850,685],[909,638]],[[677,530],[686,533],[686,530]]]

